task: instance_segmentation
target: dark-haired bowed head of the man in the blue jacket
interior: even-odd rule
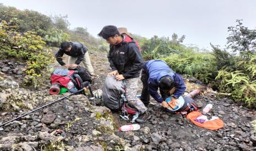
[[[172,95],[175,92],[175,82],[171,77],[162,77],[159,82],[159,88],[161,90],[170,91]]]

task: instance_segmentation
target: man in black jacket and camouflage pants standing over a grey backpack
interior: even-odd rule
[[[98,35],[110,44],[107,57],[112,72],[108,74],[116,75],[116,80],[126,82],[125,96],[127,102],[139,111],[139,117],[136,121],[145,122],[150,118],[146,112],[148,108],[136,96],[138,79],[144,63],[138,46],[129,36],[121,35],[116,26],[105,26]]]

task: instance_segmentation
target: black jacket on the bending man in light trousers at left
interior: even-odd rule
[[[75,64],[79,65],[79,63],[83,60],[84,54],[88,51],[88,49],[81,43],[70,42],[70,44],[72,45],[72,49],[69,52],[62,50],[60,48],[58,52],[55,54],[56,60],[62,66],[66,65],[66,63],[64,63],[62,60],[62,56],[64,54],[72,57],[77,57]]]

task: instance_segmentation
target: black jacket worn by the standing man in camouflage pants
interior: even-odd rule
[[[128,36],[123,36],[123,41],[110,45],[108,61],[113,71],[117,70],[126,79],[138,78],[143,66],[143,59],[138,46]]]

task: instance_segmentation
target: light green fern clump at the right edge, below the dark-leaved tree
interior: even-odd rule
[[[221,79],[219,88],[228,92],[235,101],[245,102],[249,107],[256,107],[256,55],[250,55],[249,61],[239,61],[241,71],[219,71],[216,79]]]

